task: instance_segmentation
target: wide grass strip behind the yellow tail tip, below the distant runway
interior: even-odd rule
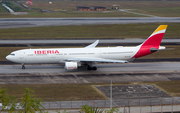
[[[164,38],[180,38],[178,23],[147,23],[0,29],[0,39],[147,38],[161,24],[168,25]]]

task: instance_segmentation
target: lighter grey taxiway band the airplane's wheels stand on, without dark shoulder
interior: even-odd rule
[[[95,64],[96,71],[87,71],[86,68],[77,70],[65,70],[62,65],[25,65],[22,70],[21,65],[0,65],[0,74],[19,74],[19,73],[37,73],[37,74],[100,74],[100,73],[127,73],[127,72],[176,72],[180,69],[180,62],[156,62],[156,63],[104,63]]]

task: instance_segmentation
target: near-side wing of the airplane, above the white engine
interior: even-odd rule
[[[103,58],[70,58],[65,61],[74,61],[74,62],[104,62],[104,63],[127,63],[127,61],[123,60],[111,60],[111,59],[103,59]]]

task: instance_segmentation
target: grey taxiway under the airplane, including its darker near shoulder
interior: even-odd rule
[[[180,62],[97,64],[65,70],[63,65],[0,65],[0,84],[64,84],[180,80]]]

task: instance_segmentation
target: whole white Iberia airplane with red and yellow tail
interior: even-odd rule
[[[99,40],[84,48],[22,49],[12,52],[6,59],[24,64],[64,63],[65,70],[86,67],[97,70],[95,63],[127,63],[166,47],[160,46],[167,25],[160,25],[142,44],[135,47],[96,47]]]

